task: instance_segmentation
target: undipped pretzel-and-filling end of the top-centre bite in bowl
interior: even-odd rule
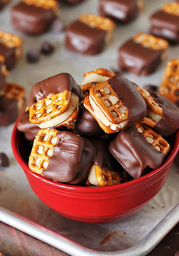
[[[85,98],[84,106],[107,133],[117,132],[127,124],[128,110],[106,81],[91,87],[90,96]]]

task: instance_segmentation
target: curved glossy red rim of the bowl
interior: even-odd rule
[[[20,117],[21,115],[19,116],[19,118],[16,120],[14,124],[13,130],[12,130],[12,136],[11,136],[11,146],[12,146],[12,152],[14,154],[14,157],[16,158],[17,162],[20,164],[20,166],[22,167],[22,169],[27,175],[30,174],[30,176],[32,176],[33,178],[36,178],[41,182],[43,181],[44,184],[51,185],[52,187],[56,187],[56,188],[75,190],[76,192],[94,192],[94,191],[107,192],[107,191],[115,191],[119,189],[129,189],[129,188],[132,188],[133,186],[137,186],[139,184],[142,184],[143,182],[146,182],[147,180],[150,180],[154,176],[157,176],[157,174],[159,174],[162,170],[165,170],[167,166],[169,166],[169,164],[173,162],[175,156],[179,152],[179,130],[178,130],[175,133],[175,142],[167,160],[163,162],[163,164],[159,168],[154,169],[153,171],[149,172],[148,174],[145,174],[144,176],[141,176],[140,178],[137,178],[125,183],[116,184],[113,186],[103,186],[103,187],[96,187],[96,186],[86,187],[86,186],[80,186],[80,185],[78,186],[78,185],[66,184],[62,182],[55,182],[53,180],[46,178],[45,176],[32,172],[29,169],[28,164],[24,161],[22,156],[20,156],[18,149],[16,148],[16,143],[17,143],[16,136],[17,136],[17,133],[19,132],[17,129],[17,124]]]

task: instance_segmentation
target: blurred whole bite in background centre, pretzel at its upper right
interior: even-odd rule
[[[109,18],[82,14],[66,28],[66,48],[80,54],[98,54],[111,40],[114,28]]]

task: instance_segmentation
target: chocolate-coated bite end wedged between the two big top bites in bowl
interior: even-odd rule
[[[95,118],[93,118],[84,106],[79,107],[79,114],[75,122],[75,130],[80,136],[85,137],[100,136],[105,133]]]

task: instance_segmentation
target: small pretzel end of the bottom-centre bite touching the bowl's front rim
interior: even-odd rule
[[[105,167],[104,170],[95,165],[95,175],[99,186],[112,186],[121,183],[118,172],[111,172]]]

